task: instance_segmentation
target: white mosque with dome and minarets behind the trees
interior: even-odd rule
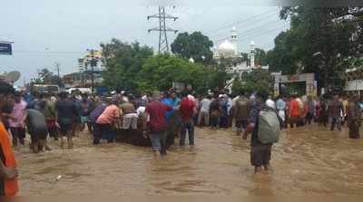
[[[221,58],[238,59],[241,57],[242,56],[238,48],[238,34],[236,27],[233,27],[231,30],[231,39],[218,44],[218,46],[213,49],[213,58],[217,61],[217,63],[219,63]],[[232,82],[236,78],[241,78],[241,75],[244,72],[252,72],[254,69],[269,70],[269,66],[257,66],[255,64],[255,46],[253,42],[250,43],[249,59],[250,63],[244,61],[226,68],[226,72],[233,74],[231,80],[227,82],[227,88],[231,88]]]

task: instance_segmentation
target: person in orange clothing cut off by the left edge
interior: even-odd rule
[[[0,196],[8,197],[15,196],[19,190],[15,156],[2,117],[3,107],[13,93],[11,85],[0,81]]]

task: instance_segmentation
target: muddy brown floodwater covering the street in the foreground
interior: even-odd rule
[[[166,157],[128,144],[94,147],[87,134],[74,149],[16,151],[19,195],[360,195],[363,140],[348,131],[284,130],[273,146],[270,174],[255,176],[250,140],[234,130],[196,130],[196,145],[172,146]],[[59,177],[59,180],[56,178]]]

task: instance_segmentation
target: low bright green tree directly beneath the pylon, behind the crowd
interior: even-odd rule
[[[140,91],[172,88],[172,82],[191,84],[199,93],[205,93],[218,87],[224,87],[225,72],[215,66],[201,63],[189,63],[188,60],[169,54],[155,55],[142,66],[136,78]]]

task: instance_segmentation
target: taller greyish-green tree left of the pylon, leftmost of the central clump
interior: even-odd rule
[[[123,43],[112,39],[110,43],[101,43],[104,85],[111,88],[134,90],[138,86],[136,75],[142,70],[142,64],[152,56],[152,48],[141,46],[140,43]]]

